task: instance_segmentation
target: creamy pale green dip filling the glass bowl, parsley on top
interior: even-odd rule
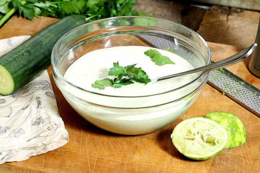
[[[158,61],[159,55],[153,56],[154,52],[164,60]],[[121,75],[127,83],[129,76],[149,81],[193,68],[177,54],[151,47],[94,50],[68,67],[64,78],[78,88],[64,85],[64,90],[69,92],[63,95],[81,116],[102,129],[126,135],[149,133],[176,120],[192,105],[200,93],[201,82],[193,81],[198,75],[158,82],[132,80],[119,88],[110,86],[109,82],[116,83],[120,70],[127,73]],[[136,70],[142,75],[134,75]],[[105,82],[99,81],[104,79]]]

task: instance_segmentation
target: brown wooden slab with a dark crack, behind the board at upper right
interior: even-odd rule
[[[248,47],[255,42],[260,13],[213,5],[197,33],[207,42]]]

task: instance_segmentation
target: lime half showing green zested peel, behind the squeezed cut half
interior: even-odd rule
[[[221,127],[226,129],[228,141],[225,148],[234,148],[246,142],[245,126],[234,114],[224,111],[215,111],[208,113],[204,117],[216,121]]]

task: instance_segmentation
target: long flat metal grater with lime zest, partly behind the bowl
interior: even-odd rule
[[[190,58],[190,56],[195,56],[188,51],[179,49],[177,41],[152,35],[138,35],[138,37],[144,42],[159,49],[177,49],[175,52],[176,54],[180,56],[185,55],[181,57],[189,56]],[[196,64],[192,65],[194,68],[197,68],[196,66],[201,66]],[[225,68],[209,72],[207,83],[260,117],[260,90],[255,86],[242,78],[239,78]]]

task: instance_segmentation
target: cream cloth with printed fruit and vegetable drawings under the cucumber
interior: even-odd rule
[[[0,55],[30,36],[0,40]],[[8,96],[0,96],[0,164],[46,153],[69,141],[47,70]]]

